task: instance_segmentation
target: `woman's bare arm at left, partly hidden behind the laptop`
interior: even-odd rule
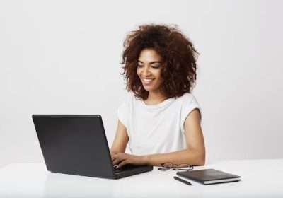
[[[110,149],[111,156],[117,153],[124,153],[129,141],[126,127],[118,120],[115,138]]]

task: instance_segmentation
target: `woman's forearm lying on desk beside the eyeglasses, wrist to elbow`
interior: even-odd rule
[[[161,163],[204,165],[205,152],[185,149],[171,153],[151,154],[144,156],[148,165],[161,166]]]

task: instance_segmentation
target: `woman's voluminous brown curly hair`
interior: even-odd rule
[[[142,86],[137,75],[137,60],[144,49],[155,50],[163,59],[161,89],[166,98],[190,93],[197,78],[196,56],[199,54],[192,42],[178,30],[177,25],[140,25],[130,32],[124,42],[122,75],[127,81],[127,91],[146,100],[149,91]]]

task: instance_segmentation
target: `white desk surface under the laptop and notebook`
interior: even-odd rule
[[[283,159],[221,161],[215,168],[240,182],[192,186],[173,180],[175,170],[108,180],[50,173],[43,163],[13,163],[0,169],[0,197],[283,197]],[[197,169],[200,169],[197,168]]]

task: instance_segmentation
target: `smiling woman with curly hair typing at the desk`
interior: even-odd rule
[[[204,165],[201,112],[190,93],[197,76],[192,42],[178,28],[141,25],[124,47],[122,74],[131,94],[118,108],[113,164]]]

